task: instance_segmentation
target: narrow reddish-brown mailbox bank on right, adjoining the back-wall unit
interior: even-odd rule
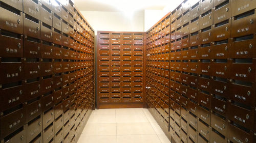
[[[146,101],[158,120],[169,126],[169,44],[170,14],[147,32]]]

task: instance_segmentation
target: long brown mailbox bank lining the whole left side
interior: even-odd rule
[[[94,32],[71,1],[0,10],[1,142],[76,142],[94,102]]]

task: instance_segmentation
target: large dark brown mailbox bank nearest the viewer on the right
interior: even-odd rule
[[[188,2],[171,20],[172,138],[253,142],[256,1]]]

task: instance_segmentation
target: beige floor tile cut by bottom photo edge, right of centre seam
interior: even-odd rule
[[[150,135],[118,135],[117,143],[161,143],[156,134]]]

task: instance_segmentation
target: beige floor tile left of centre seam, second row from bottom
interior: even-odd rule
[[[81,135],[116,135],[116,123],[87,124]]]

